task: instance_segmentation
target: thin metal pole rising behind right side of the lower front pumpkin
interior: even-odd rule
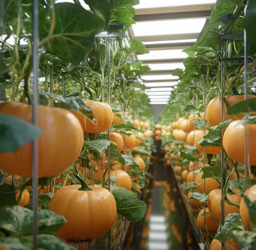
[[[109,39],[106,39],[106,54],[107,54],[107,103],[110,105],[110,44]],[[110,136],[110,129],[107,131]],[[108,173],[108,190],[110,191],[110,145],[107,147],[107,173]],[[108,231],[108,249],[111,249],[111,230]]]

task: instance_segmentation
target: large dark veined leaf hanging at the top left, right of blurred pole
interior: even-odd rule
[[[48,53],[74,64],[82,62],[104,26],[103,19],[81,5],[58,3],[53,10],[39,10],[40,43]]]

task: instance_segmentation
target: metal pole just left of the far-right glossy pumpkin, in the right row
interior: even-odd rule
[[[226,56],[224,54],[225,50],[225,42],[222,40],[222,46],[221,46],[221,55],[222,55],[222,61],[221,61],[221,121],[225,121],[225,103],[224,103],[224,98],[225,98],[225,88],[224,88],[224,71],[225,71],[225,63],[223,61],[224,57]],[[222,128],[222,139],[224,135],[224,128]],[[221,149],[221,192],[222,192],[222,199],[221,199],[221,228],[225,223],[225,197],[223,193],[225,192],[224,186],[225,186],[225,181],[226,181],[226,174],[225,174],[225,165],[224,165],[224,160],[225,160],[225,152],[224,149]],[[222,242],[222,250],[224,250],[224,244]]]

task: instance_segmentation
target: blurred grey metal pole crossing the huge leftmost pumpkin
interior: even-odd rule
[[[37,125],[37,106],[38,106],[38,44],[39,44],[39,12],[38,0],[33,0],[33,124]],[[33,141],[33,250],[38,249],[38,140]]]

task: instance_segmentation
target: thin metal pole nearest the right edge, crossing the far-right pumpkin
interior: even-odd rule
[[[246,11],[248,7],[248,1],[246,3],[245,7],[245,16],[246,16]],[[246,34],[246,29],[244,29],[244,99],[247,100],[247,81],[248,81],[248,39],[247,39],[247,34]],[[246,117],[247,115],[245,115]],[[245,148],[244,148],[244,159],[245,159],[245,191],[247,190],[248,187],[248,159],[247,159],[247,154],[248,154],[248,149],[247,149],[247,125],[245,125]]]

